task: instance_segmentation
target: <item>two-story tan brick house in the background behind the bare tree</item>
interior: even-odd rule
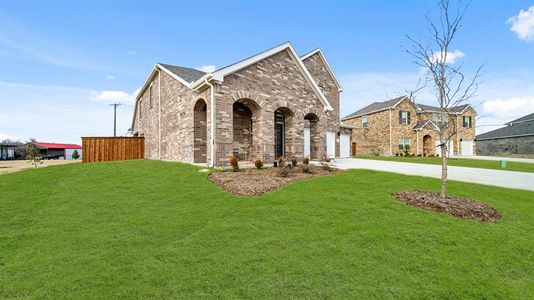
[[[449,126],[456,126],[449,155],[475,154],[475,116],[470,105],[452,107],[454,116]],[[406,96],[374,102],[346,117],[343,124],[352,130],[353,155],[396,155],[404,145],[410,145],[414,155],[435,155],[439,145],[437,122],[439,107],[415,104]],[[444,119],[447,119],[446,117]],[[455,125],[453,125],[455,124]]]

